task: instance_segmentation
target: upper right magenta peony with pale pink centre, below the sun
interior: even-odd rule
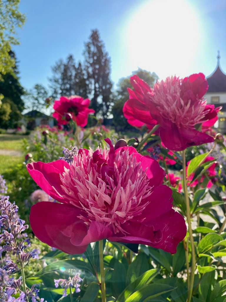
[[[202,73],[184,79],[168,77],[150,88],[138,76],[130,78],[135,91],[128,88],[129,100],[124,104],[128,123],[152,129],[159,124],[159,135],[166,148],[173,151],[213,142],[213,138],[198,131],[199,125],[213,126],[217,112],[204,101],[208,83]]]

